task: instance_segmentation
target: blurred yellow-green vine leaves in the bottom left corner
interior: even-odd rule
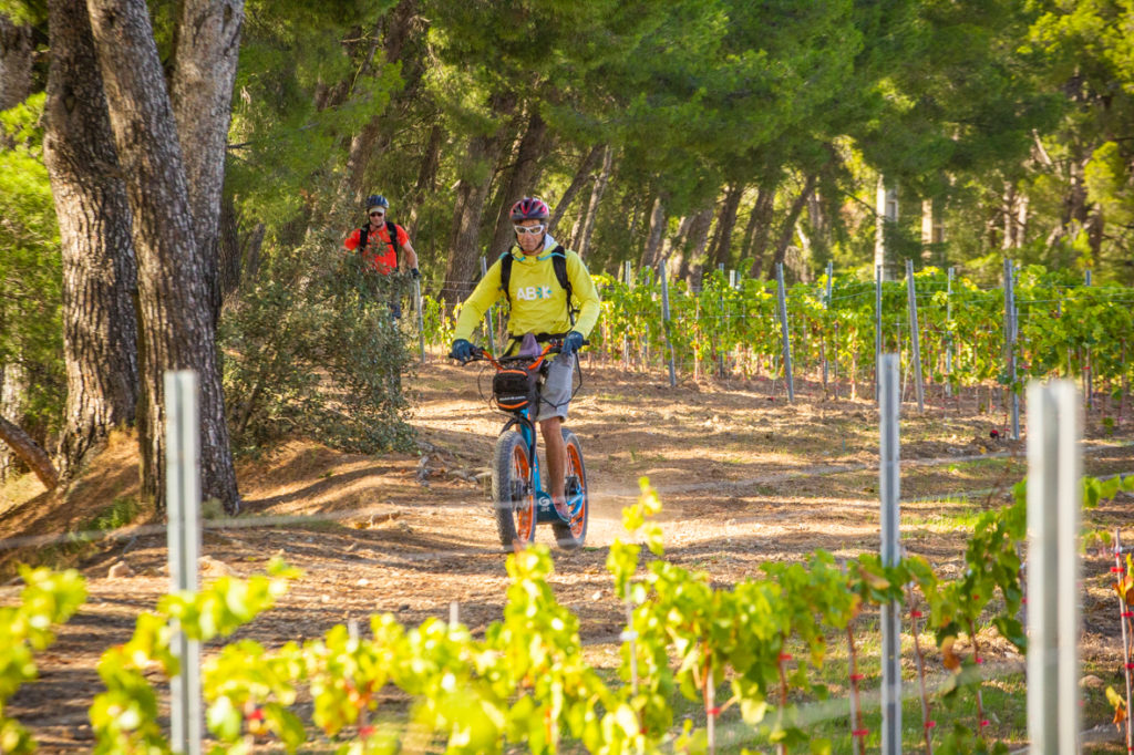
[[[35,741],[5,704],[25,681],[36,678],[34,654],[56,639],[51,626],[67,621],[86,600],[86,584],[75,570],[52,572],[22,566],[25,587],[19,605],[0,608],[0,752],[35,752]]]

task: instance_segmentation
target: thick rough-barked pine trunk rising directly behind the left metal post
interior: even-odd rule
[[[145,417],[138,423],[142,494],[154,500],[159,510],[164,508],[163,376],[168,370],[194,370],[201,392],[201,490],[235,514],[239,493],[217,368],[211,268],[194,228],[177,125],[149,10],[144,0],[88,0],[87,7],[134,218],[144,397],[139,414]],[[227,120],[226,113],[212,114]],[[202,134],[201,138],[212,134],[208,128],[193,133]],[[203,192],[205,177],[215,172],[204,166],[200,171]]]

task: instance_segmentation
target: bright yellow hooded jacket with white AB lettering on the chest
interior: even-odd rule
[[[557,246],[555,239],[548,236],[543,251],[539,254],[526,255],[518,248],[509,252],[513,263],[508,286],[508,298],[511,302],[508,332],[511,336],[577,330],[585,338],[599,321],[599,292],[591,280],[591,273],[576,253],[567,251],[567,280],[572,285],[572,298],[579,307],[578,319],[574,325],[570,324],[567,291],[556,279],[551,263],[551,253]],[[484,319],[484,313],[501,297],[503,289],[500,288],[500,260],[497,260],[465,300],[457,317],[454,338],[468,340]]]

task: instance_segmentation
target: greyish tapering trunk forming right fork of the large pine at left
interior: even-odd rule
[[[183,0],[170,86],[213,329],[221,305],[220,200],[243,24],[244,0]]]

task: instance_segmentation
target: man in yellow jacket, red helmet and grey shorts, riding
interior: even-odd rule
[[[500,297],[506,297],[511,305],[508,316],[511,341],[506,355],[516,353],[526,333],[533,333],[538,339],[542,337],[543,340],[550,336],[564,338],[562,351],[548,368],[540,401],[532,416],[533,421],[539,422],[543,435],[551,487],[549,492],[558,506],[564,501],[564,475],[567,470],[567,447],[560,429],[570,404],[576,353],[598,322],[600,305],[599,292],[583,260],[576,253],[564,249],[547,232],[550,214],[547,203],[538,197],[524,197],[513,205],[510,217],[518,248],[509,249],[492,263],[465,300],[460,316],[457,317],[449,356],[462,362],[473,356],[473,345],[468,339],[484,319],[484,313]],[[557,268],[560,272],[557,272]],[[560,282],[564,269],[566,282],[570,287],[570,300],[567,288]],[[505,277],[508,279],[508,290],[503,290],[501,286]],[[573,309],[575,302],[578,303],[577,319]]]

